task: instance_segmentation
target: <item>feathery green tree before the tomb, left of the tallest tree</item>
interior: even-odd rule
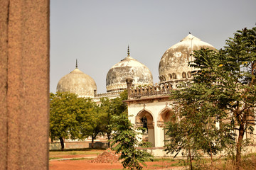
[[[234,134],[228,124],[216,126],[226,113],[214,102],[212,94],[216,92],[215,86],[203,81],[186,85],[189,87],[174,91],[171,97],[176,101],[174,116],[177,121],[167,123],[165,150],[176,155],[181,152],[184,157],[188,157],[193,169],[192,159],[199,158],[201,151],[209,154],[213,161],[213,155],[233,142]]]

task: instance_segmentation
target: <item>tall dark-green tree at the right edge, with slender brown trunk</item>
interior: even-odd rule
[[[253,131],[252,125],[255,125],[256,27],[238,30],[234,38],[226,41],[226,46],[220,53],[224,56],[220,55],[218,65],[222,71],[222,100],[233,117],[233,126],[238,126],[235,128],[238,130],[236,164],[237,169],[240,169],[242,139],[245,132]]]

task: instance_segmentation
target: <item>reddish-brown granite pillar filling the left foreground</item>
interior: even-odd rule
[[[0,4],[0,169],[48,169],[49,1]]]

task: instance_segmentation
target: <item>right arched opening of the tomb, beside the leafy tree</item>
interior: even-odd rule
[[[171,108],[164,108],[161,113],[159,114],[159,120],[157,122],[157,125],[161,128],[163,128],[163,136],[164,136],[164,145],[166,144],[166,140],[168,140],[168,137],[166,136],[166,123],[172,121],[176,122],[176,117],[174,115],[174,111],[171,110]]]

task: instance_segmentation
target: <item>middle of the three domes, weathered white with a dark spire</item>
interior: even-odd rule
[[[114,64],[107,73],[107,92],[127,89],[126,79],[132,77],[135,86],[153,85],[153,77],[148,67],[129,55]]]

